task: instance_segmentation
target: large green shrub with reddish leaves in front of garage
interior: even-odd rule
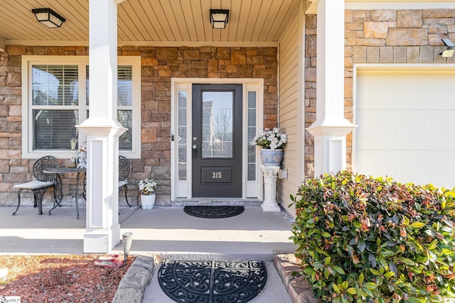
[[[338,172],[291,200],[301,275],[324,302],[455,297],[455,192]]]

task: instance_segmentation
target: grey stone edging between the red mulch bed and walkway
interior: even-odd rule
[[[141,303],[146,285],[154,272],[154,258],[138,255],[120,281],[112,303]]]

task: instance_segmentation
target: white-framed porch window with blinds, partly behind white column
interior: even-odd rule
[[[23,56],[22,66],[23,158],[70,158],[86,141],[75,125],[90,116],[88,57]],[[117,120],[127,128],[119,150],[129,158],[140,157],[140,68],[140,57],[119,57]]]

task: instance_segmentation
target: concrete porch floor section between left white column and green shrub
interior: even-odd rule
[[[138,209],[122,223],[132,232],[132,253],[151,252],[161,258],[189,260],[266,260],[294,245],[291,218],[284,212],[264,213],[260,207],[225,219],[200,219],[182,206]],[[114,250],[123,250],[119,243]],[[202,258],[202,259],[201,259]]]

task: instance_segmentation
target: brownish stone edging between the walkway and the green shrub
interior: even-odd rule
[[[275,255],[274,265],[279,276],[282,278],[289,297],[294,303],[320,303],[321,300],[315,299],[311,291],[311,286],[303,276],[293,277],[292,272],[300,270],[294,254]]]

